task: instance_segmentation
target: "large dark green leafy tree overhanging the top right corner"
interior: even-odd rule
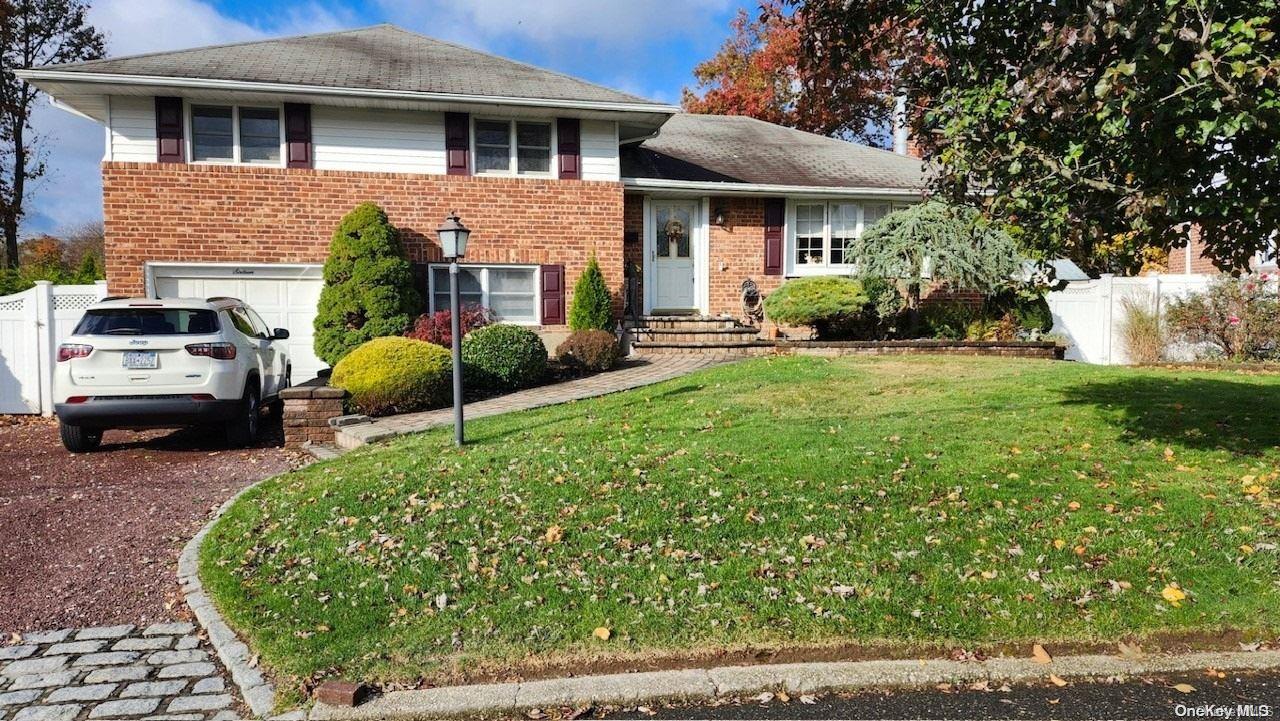
[[[801,3],[801,0],[792,0]],[[1276,0],[808,0],[801,65],[832,77],[910,28],[934,190],[1093,266],[1187,242],[1248,264],[1280,227]],[[872,54],[874,55],[874,54]],[[1119,247],[1117,246],[1124,246]]]

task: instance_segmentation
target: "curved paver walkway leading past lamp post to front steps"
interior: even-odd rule
[[[608,373],[598,373],[552,385],[539,385],[538,388],[529,388],[527,391],[517,391],[506,396],[467,403],[463,412],[470,420],[541,406],[553,406],[556,403],[567,403],[570,401],[580,401],[582,398],[660,383],[730,360],[741,360],[741,357],[673,353],[669,356],[653,356],[650,359],[628,359],[622,362],[621,368]],[[381,417],[372,423],[342,428],[337,434],[337,441],[344,448],[355,448],[396,435],[452,424],[453,409],[402,414]]]

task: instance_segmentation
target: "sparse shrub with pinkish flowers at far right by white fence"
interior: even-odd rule
[[[1216,279],[1203,293],[1172,301],[1165,321],[1176,339],[1207,343],[1229,360],[1280,356],[1280,293],[1266,274]]]

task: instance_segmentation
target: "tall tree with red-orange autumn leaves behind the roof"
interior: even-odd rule
[[[740,9],[732,35],[713,58],[694,68],[685,88],[690,113],[749,115],[813,133],[882,145],[893,111],[895,55],[882,53],[855,76],[833,82],[818,64],[801,64],[803,12],[762,0],[753,17]]]

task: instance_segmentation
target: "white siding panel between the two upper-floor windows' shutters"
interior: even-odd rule
[[[321,170],[444,174],[444,115],[412,110],[311,106]]]

